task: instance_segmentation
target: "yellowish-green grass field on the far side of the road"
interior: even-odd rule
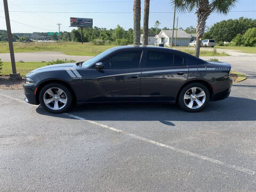
[[[91,43],[63,42],[63,43],[13,43],[14,52],[60,51],[67,55],[95,56],[115,45],[93,45]],[[194,55],[194,49],[179,47],[177,50]],[[0,43],[0,53],[9,53],[7,42]],[[200,56],[228,56],[222,52],[200,51]]]

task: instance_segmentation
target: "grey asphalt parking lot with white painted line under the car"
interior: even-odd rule
[[[193,114],[134,103],[53,115],[0,90],[0,191],[256,191],[256,70],[246,65],[228,99]]]

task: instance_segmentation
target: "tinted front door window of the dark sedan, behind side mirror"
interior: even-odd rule
[[[142,51],[123,51],[102,61],[104,69],[138,68]]]

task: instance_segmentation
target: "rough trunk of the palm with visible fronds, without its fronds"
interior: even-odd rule
[[[196,49],[195,56],[199,58],[201,39],[204,36],[206,20],[211,14],[209,0],[201,0],[197,6],[197,26],[196,26]]]

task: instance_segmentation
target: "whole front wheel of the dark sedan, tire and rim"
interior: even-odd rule
[[[39,101],[44,109],[51,113],[63,113],[72,105],[72,94],[66,86],[50,83],[39,93]]]

